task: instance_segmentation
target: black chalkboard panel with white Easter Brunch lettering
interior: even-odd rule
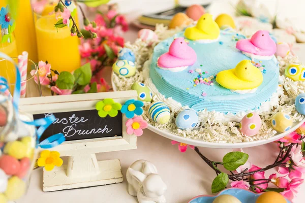
[[[44,113],[33,115],[34,119],[54,115],[56,120],[43,133],[41,140],[62,132],[66,141],[123,136],[122,114],[101,118],[97,110]]]

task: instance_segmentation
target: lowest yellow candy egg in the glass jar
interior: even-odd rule
[[[8,181],[8,187],[5,192],[8,200],[19,199],[25,193],[25,182],[17,176],[13,176]]]

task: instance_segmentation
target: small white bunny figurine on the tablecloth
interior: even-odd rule
[[[166,185],[153,163],[137,160],[127,170],[128,193],[137,196],[139,203],[165,203]]]

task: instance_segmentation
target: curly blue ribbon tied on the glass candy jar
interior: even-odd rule
[[[16,85],[15,85],[15,90],[14,90],[14,96],[13,96],[13,107],[15,110],[15,114],[16,114],[16,118],[18,117],[18,104],[19,104],[19,98],[20,98],[20,90],[21,90],[21,75],[18,69],[17,64],[15,63],[15,61],[10,58],[8,55],[1,53],[0,52],[0,57],[7,59],[9,61],[11,61],[16,69]],[[5,92],[7,90],[9,90],[9,85],[8,85],[8,81],[7,79],[5,79],[4,77],[0,76],[0,91],[1,92]],[[64,136],[63,133],[57,133],[57,134],[53,134],[53,136],[48,137],[47,139],[43,140],[42,142],[39,142],[43,132],[52,124],[52,122],[55,120],[55,116],[50,116],[47,118],[40,118],[34,121],[23,121],[25,124],[28,125],[34,125],[36,127],[39,127],[38,129],[36,129],[36,135],[37,135],[37,145],[36,147],[40,147],[43,149],[48,149],[48,148],[52,148],[52,147],[56,147],[60,144],[62,144],[63,142],[65,142],[66,138]]]

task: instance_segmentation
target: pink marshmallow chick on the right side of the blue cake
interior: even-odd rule
[[[259,30],[251,39],[239,40],[236,48],[254,55],[271,56],[276,53],[277,44],[271,39],[268,31]]]

